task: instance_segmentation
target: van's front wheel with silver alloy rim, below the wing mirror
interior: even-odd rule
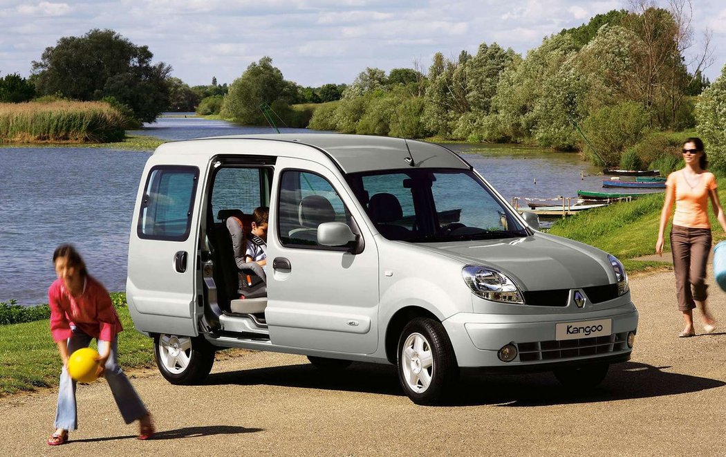
[[[440,322],[415,318],[401,332],[398,346],[401,387],[417,405],[436,405],[459,375],[449,335]]]

